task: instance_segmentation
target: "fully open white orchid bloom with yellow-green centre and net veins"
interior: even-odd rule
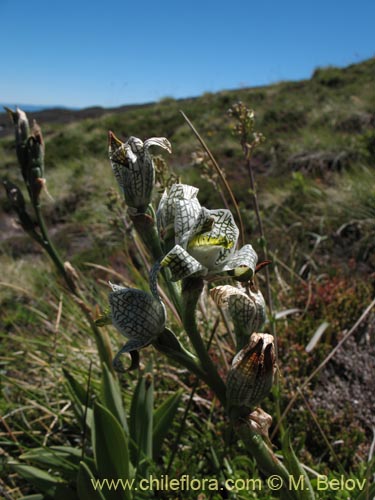
[[[236,250],[239,231],[233,215],[225,209],[200,207],[192,190],[191,186],[171,189],[159,205],[159,228],[172,228],[174,215],[175,240],[175,246],[165,255],[161,266],[169,267],[172,281],[216,275],[249,280],[258,257],[251,245]],[[181,193],[183,196],[190,193],[190,198],[180,197]]]

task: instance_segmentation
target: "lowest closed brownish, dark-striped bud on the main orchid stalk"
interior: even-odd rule
[[[247,416],[270,391],[275,370],[273,336],[253,333],[237,353],[227,378],[228,414]]]

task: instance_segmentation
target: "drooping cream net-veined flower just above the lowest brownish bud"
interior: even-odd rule
[[[266,303],[260,290],[245,293],[231,285],[217,286],[210,290],[214,302],[227,308],[234,324],[237,351],[249,341],[253,332],[259,332],[266,321]]]

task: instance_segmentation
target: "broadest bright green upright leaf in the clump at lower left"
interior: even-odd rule
[[[129,479],[128,440],[117,418],[104,406],[94,404],[92,444],[101,479]],[[111,490],[108,499],[130,499],[129,491]]]

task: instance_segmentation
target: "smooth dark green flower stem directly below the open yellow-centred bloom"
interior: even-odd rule
[[[182,322],[186,333],[193,344],[195,352],[200,360],[201,366],[206,373],[206,383],[215,392],[221,404],[226,406],[226,387],[221,379],[196,323],[196,306],[202,292],[203,281],[199,278],[185,279],[182,285]]]

